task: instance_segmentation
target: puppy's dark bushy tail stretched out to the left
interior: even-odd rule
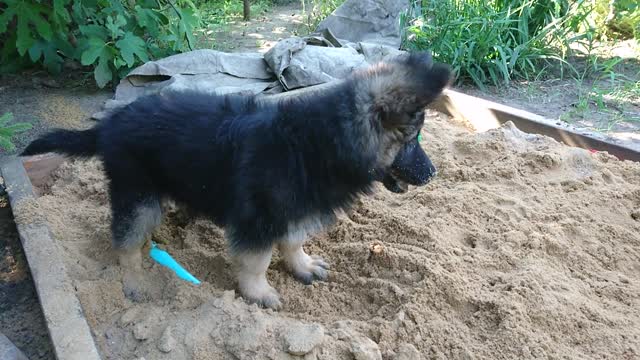
[[[57,129],[34,140],[21,156],[57,152],[70,156],[91,157],[98,151],[97,132],[89,130]]]

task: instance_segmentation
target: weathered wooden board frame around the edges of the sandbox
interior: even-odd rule
[[[277,99],[328,88],[323,84],[289,93],[271,95]],[[623,160],[640,161],[640,148],[615,143],[603,134],[577,130],[541,116],[495,102],[447,90],[432,106],[454,118],[466,120],[476,131],[497,128],[512,121],[520,130],[550,136],[570,146],[607,151]],[[13,209],[39,196],[40,187],[64,158],[45,154],[9,158],[0,166]],[[97,346],[84,317],[73,284],[58,254],[46,223],[16,221],[20,241],[36,286],[40,305],[56,357],[59,360],[100,360]]]

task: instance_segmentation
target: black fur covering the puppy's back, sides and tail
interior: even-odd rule
[[[411,80],[409,89],[430,98],[411,104],[407,111],[412,113],[448,81],[448,69],[445,75],[428,73],[430,59],[419,65],[427,66],[418,72],[424,78]],[[279,102],[195,92],[150,95],[92,130],[46,135],[23,154],[99,156],[110,181],[116,247],[132,245],[124,244],[125,233],[141,204],[153,209],[170,197],[225,226],[233,250],[262,250],[282,239],[290,224],[310,217],[329,224],[335,211],[369,193],[374,174],[391,165],[381,164],[384,139],[415,141],[423,120],[377,99],[379,82],[362,85],[384,71],[364,72],[330,91]],[[393,83],[396,76],[384,81],[402,87]],[[393,113],[376,113],[384,109]],[[380,119],[393,118],[396,126],[405,117],[411,124],[382,136],[391,125]]]

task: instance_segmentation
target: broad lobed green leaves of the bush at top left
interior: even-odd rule
[[[4,0],[0,71],[64,59],[92,66],[99,87],[153,58],[188,50],[198,25],[190,0]]]

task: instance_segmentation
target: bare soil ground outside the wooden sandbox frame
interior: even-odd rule
[[[274,7],[267,13],[256,14],[254,20],[248,23],[234,21],[225,27],[211,29],[209,34],[215,38],[212,47],[220,50],[265,52],[281,38],[304,34],[304,20],[299,3],[294,2]],[[472,88],[463,88],[463,91],[550,118],[562,118],[592,129],[613,131],[619,137],[639,139],[638,58],[631,58],[620,66],[627,67],[621,72],[631,79],[625,82],[631,84],[631,89],[634,89],[635,79],[636,95],[614,100],[607,100],[604,96],[604,108],[597,96],[585,96],[614,93],[603,91],[609,89],[604,81],[597,82],[595,87],[574,80],[563,80],[534,81],[483,92]],[[12,112],[15,121],[28,121],[34,125],[33,130],[14,139],[16,151],[52,127],[91,126],[93,121],[89,120],[89,116],[112,96],[110,90],[96,89],[90,79],[82,81],[88,74],[70,77],[70,72],[57,78],[38,72],[0,77],[0,113]],[[611,88],[615,90],[616,86],[614,83]],[[0,157],[6,155],[9,154],[0,150]],[[6,199],[0,201],[0,252],[0,331],[30,359],[53,359],[37,294]]]

